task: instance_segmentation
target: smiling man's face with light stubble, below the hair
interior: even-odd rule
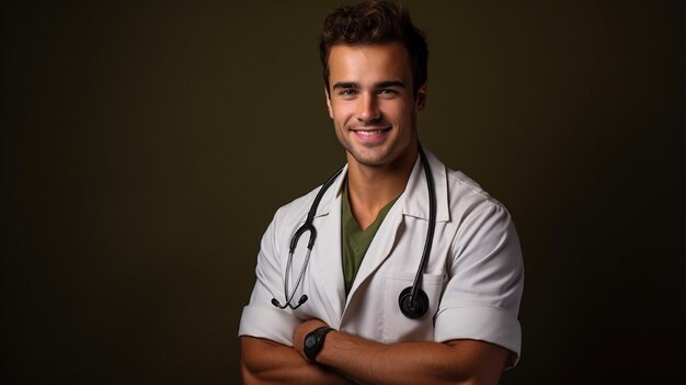
[[[416,158],[416,113],[425,87],[412,94],[412,70],[400,43],[334,45],[327,104],[348,163],[395,168]]]

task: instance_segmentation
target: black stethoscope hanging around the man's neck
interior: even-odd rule
[[[398,306],[400,307],[400,312],[402,312],[402,314],[408,318],[420,318],[428,309],[428,296],[421,287],[422,274],[424,273],[424,269],[428,261],[428,254],[431,253],[431,246],[434,239],[434,229],[436,227],[436,193],[434,190],[434,179],[431,173],[428,160],[426,159],[426,155],[424,154],[421,145],[419,146],[419,152],[422,167],[424,168],[424,174],[426,175],[426,189],[428,190],[428,228],[426,230],[426,240],[424,242],[422,260],[420,261],[420,267],[416,270],[414,282],[412,283],[412,286],[405,287],[402,292],[400,292],[400,295],[398,296]],[[315,197],[315,202],[312,202],[312,205],[310,206],[310,211],[307,214],[305,223],[296,230],[296,233],[290,238],[290,247],[288,248],[288,262],[286,263],[286,275],[284,278],[284,296],[286,297],[286,303],[282,305],[276,298],[272,298],[272,305],[281,309],[290,307],[295,310],[302,304],[305,304],[308,299],[307,295],[302,294],[296,305],[291,304],[296,291],[300,286],[300,282],[302,282],[302,278],[305,276],[305,271],[307,270],[310,261],[312,247],[315,246],[315,240],[317,239],[317,228],[313,225],[315,215],[317,215],[317,207],[319,206],[319,202],[324,195],[324,192],[327,192],[331,184],[333,184],[333,182],[341,174],[343,168],[334,172],[333,175],[331,175],[331,178],[329,178],[324,185],[319,190],[317,196]],[[302,268],[300,269],[300,274],[298,275],[295,287],[289,291],[289,278],[290,273],[293,272],[293,253],[295,252],[296,246],[298,245],[298,240],[300,240],[300,236],[302,236],[302,234],[305,234],[306,231],[310,233],[310,238],[307,242],[307,254],[305,256],[305,261],[302,263]]]

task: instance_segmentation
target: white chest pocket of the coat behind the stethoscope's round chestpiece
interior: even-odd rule
[[[386,343],[434,340],[434,316],[438,309],[445,274],[423,274],[421,288],[428,297],[428,310],[416,319],[405,317],[398,304],[400,293],[405,287],[412,286],[414,276],[415,273],[395,272],[386,278],[381,316],[382,336]]]

